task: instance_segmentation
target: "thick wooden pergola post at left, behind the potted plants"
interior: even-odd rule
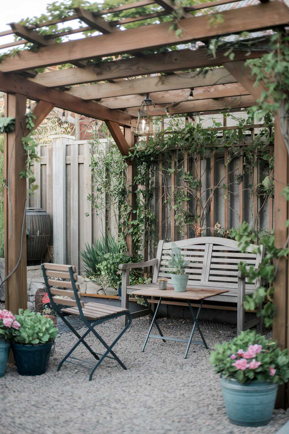
[[[15,131],[4,137],[4,256],[5,276],[16,270],[5,283],[5,307],[13,313],[27,308],[26,269],[26,178],[22,137],[25,131],[26,97],[5,95],[5,116],[15,118]]]

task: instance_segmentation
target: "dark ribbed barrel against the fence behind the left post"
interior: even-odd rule
[[[42,208],[26,208],[27,261],[41,261],[50,238],[49,215]]]

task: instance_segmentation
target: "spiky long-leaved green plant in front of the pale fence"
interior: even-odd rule
[[[85,244],[84,250],[81,251],[81,259],[84,262],[84,273],[86,276],[98,276],[101,273],[98,265],[103,261],[104,255],[110,253],[112,256],[122,254],[126,249],[123,239],[115,238],[107,233],[106,237],[96,240],[93,244]]]

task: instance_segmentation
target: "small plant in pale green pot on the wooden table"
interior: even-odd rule
[[[185,267],[189,265],[189,261],[184,260],[179,247],[172,243],[171,259],[168,261],[168,266],[173,269],[171,273],[172,284],[177,293],[185,292],[188,283],[188,274],[185,274]]]

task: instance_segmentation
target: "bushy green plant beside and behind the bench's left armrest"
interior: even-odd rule
[[[103,256],[103,261],[97,266],[101,274],[95,278],[95,281],[102,287],[109,286],[117,289],[121,285],[121,270],[118,269],[118,266],[130,262],[142,262],[142,260],[142,256],[134,258],[125,253],[106,253]],[[130,270],[130,285],[143,283],[142,276],[143,270],[141,268]]]

